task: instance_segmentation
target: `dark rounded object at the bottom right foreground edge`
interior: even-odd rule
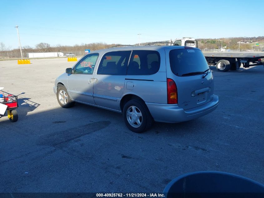
[[[249,178],[219,171],[198,171],[181,175],[163,190],[171,197],[264,197],[264,185]]]

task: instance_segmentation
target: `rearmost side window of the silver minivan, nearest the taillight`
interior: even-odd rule
[[[160,68],[160,54],[153,50],[133,50],[127,75],[156,74]]]

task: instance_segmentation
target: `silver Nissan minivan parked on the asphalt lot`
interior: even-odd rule
[[[212,72],[198,48],[133,46],[93,51],[83,56],[53,88],[58,103],[75,102],[123,114],[141,133],[154,121],[177,123],[217,108]]]

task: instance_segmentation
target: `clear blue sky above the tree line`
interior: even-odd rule
[[[1,0],[0,42],[18,47],[264,35],[263,0]]]

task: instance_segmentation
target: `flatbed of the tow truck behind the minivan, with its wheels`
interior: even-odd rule
[[[264,52],[203,52],[207,63],[214,65],[217,71],[239,69],[241,64],[244,68],[251,66],[264,66]]]

